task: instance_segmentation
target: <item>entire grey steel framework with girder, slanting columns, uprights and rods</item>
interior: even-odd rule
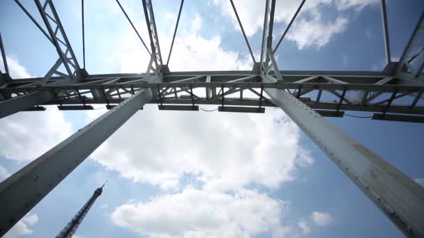
[[[424,91],[424,14],[400,61],[392,62],[386,3],[381,0],[387,63],[381,72],[288,71],[278,69],[274,54],[305,0],[275,46],[272,44],[275,0],[264,0],[266,8],[259,61],[252,53],[236,6],[229,0],[254,62],[252,70],[170,72],[168,63],[183,1],[164,64],[151,0],[142,0],[149,47],[116,0],[149,52],[149,66],[143,74],[93,75],[84,70],[84,1],[84,68],[79,67],[52,0],[35,1],[43,23],[37,22],[20,1],[15,0],[52,42],[59,58],[45,77],[11,79],[0,36],[6,71],[0,74],[0,118],[19,111],[43,111],[43,105],[47,104],[57,104],[61,110],[90,110],[93,104],[106,104],[110,110],[0,184],[0,204],[6,204],[0,214],[0,235],[5,234],[144,104],[151,103],[158,104],[160,110],[197,111],[199,105],[216,104],[219,111],[250,113],[263,113],[266,106],[278,106],[405,235],[424,236],[424,189],[322,118],[343,117],[345,111],[365,111],[371,112],[370,118],[374,120],[424,122],[421,101]]]

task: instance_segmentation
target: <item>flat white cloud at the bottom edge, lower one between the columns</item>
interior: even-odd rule
[[[285,202],[251,190],[234,194],[185,189],[148,203],[117,207],[112,221],[149,237],[249,237],[285,231],[280,216]]]

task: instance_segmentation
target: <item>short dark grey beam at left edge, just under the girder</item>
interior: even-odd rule
[[[30,109],[36,105],[47,104],[50,100],[52,100],[52,97],[47,91],[13,97],[10,100],[0,102],[0,118]]]

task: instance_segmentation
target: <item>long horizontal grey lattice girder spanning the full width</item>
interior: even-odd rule
[[[424,86],[381,72],[280,73],[284,81],[275,83],[264,82],[260,74],[248,71],[174,72],[160,77],[100,74],[79,81],[53,78],[41,86],[38,79],[18,79],[3,84],[0,93],[8,100],[13,96],[48,91],[54,97],[45,104],[119,104],[138,90],[151,88],[152,104],[275,106],[265,94],[261,100],[259,91],[261,88],[278,88],[289,91],[312,109],[424,115],[424,106],[418,103]],[[151,79],[155,77],[158,80],[152,83]]]

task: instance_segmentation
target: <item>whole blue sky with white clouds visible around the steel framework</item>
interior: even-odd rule
[[[40,21],[33,1],[22,1]],[[54,1],[82,65],[80,5]],[[144,40],[141,1],[121,0]],[[259,60],[262,1],[234,1]],[[300,1],[277,1],[278,40]],[[153,1],[162,57],[179,1]],[[0,30],[12,77],[42,77],[56,51],[13,1]],[[115,1],[86,0],[86,70],[144,72],[148,54]],[[387,1],[392,60],[422,1]],[[250,70],[229,1],[186,0],[169,68]],[[41,23],[41,21],[40,21]],[[282,70],[374,70],[385,56],[379,1],[307,1],[277,51]],[[0,180],[84,127],[96,111],[22,112],[0,123]],[[329,118],[416,181],[424,182],[422,125]],[[93,152],[6,237],[53,237],[94,189],[104,192],[76,237],[402,237],[397,228],[279,109],[264,115],[158,111],[145,106]]]

